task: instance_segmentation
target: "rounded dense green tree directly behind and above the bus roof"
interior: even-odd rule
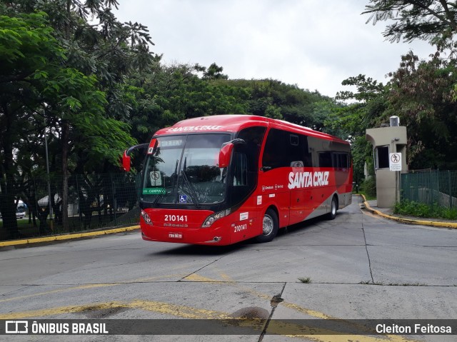
[[[166,66],[157,60],[148,74],[132,74],[126,85],[132,135],[148,141],[158,129],[183,119],[246,114],[248,91],[224,78],[199,76],[203,70],[198,64]]]

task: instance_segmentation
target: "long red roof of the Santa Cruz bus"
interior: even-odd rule
[[[315,136],[316,138],[348,144],[347,141],[339,139],[336,136],[314,131],[313,129],[298,124],[291,124],[287,121],[270,119],[264,116],[238,114],[201,116],[199,118],[182,120],[171,127],[160,129],[154,136],[197,132],[236,132],[250,126],[266,126],[276,129],[285,129],[297,134],[306,134],[308,136]]]

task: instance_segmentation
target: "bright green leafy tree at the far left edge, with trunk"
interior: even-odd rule
[[[23,136],[43,129],[41,94],[45,80],[61,72],[64,54],[46,26],[46,14],[10,15],[0,4],[0,211],[7,236],[14,238],[19,235],[15,216],[19,172],[14,150]]]

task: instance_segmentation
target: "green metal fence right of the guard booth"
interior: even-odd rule
[[[401,198],[441,208],[457,208],[457,171],[402,173]]]

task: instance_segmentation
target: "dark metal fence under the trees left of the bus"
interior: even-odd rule
[[[14,194],[5,184],[14,183]],[[131,173],[72,175],[64,224],[64,178],[1,180],[0,240],[139,223],[138,181]],[[11,186],[9,187],[11,189]],[[49,206],[51,199],[51,206]]]

